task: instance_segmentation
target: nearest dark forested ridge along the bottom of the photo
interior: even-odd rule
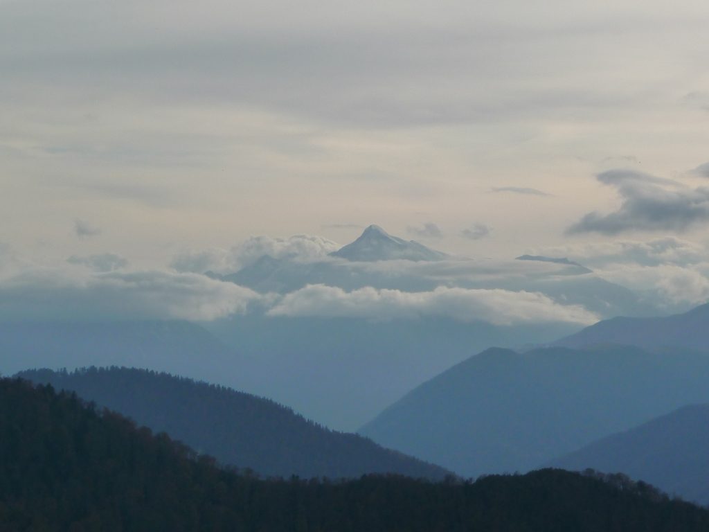
[[[699,532],[709,511],[625,477],[264,481],[75,396],[0,380],[3,531]]]

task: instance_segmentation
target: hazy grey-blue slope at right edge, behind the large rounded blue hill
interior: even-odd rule
[[[650,350],[669,346],[709,350],[709,304],[704,304],[684,314],[660,318],[613,318],[572,336],[555,345],[583,348],[590,345],[616,343],[637,345]]]

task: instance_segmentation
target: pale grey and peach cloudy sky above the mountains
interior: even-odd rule
[[[689,0],[0,0],[0,314],[61,267],[150,272],[222,315],[256,296],[215,311],[179,260],[370,223],[630,261],[605,278],[703,302],[708,24]]]

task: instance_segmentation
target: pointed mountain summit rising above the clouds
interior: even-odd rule
[[[427,248],[415,240],[403,240],[390,235],[379,226],[369,226],[357,240],[330,255],[355,262],[396,259],[443,260],[448,256]]]

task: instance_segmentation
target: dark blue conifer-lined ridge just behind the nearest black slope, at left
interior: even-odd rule
[[[144,370],[26,371],[18,377],[76,392],[224,464],[267,476],[359,477],[397,473],[440,480],[447,471],[330,431],[250,394]]]

